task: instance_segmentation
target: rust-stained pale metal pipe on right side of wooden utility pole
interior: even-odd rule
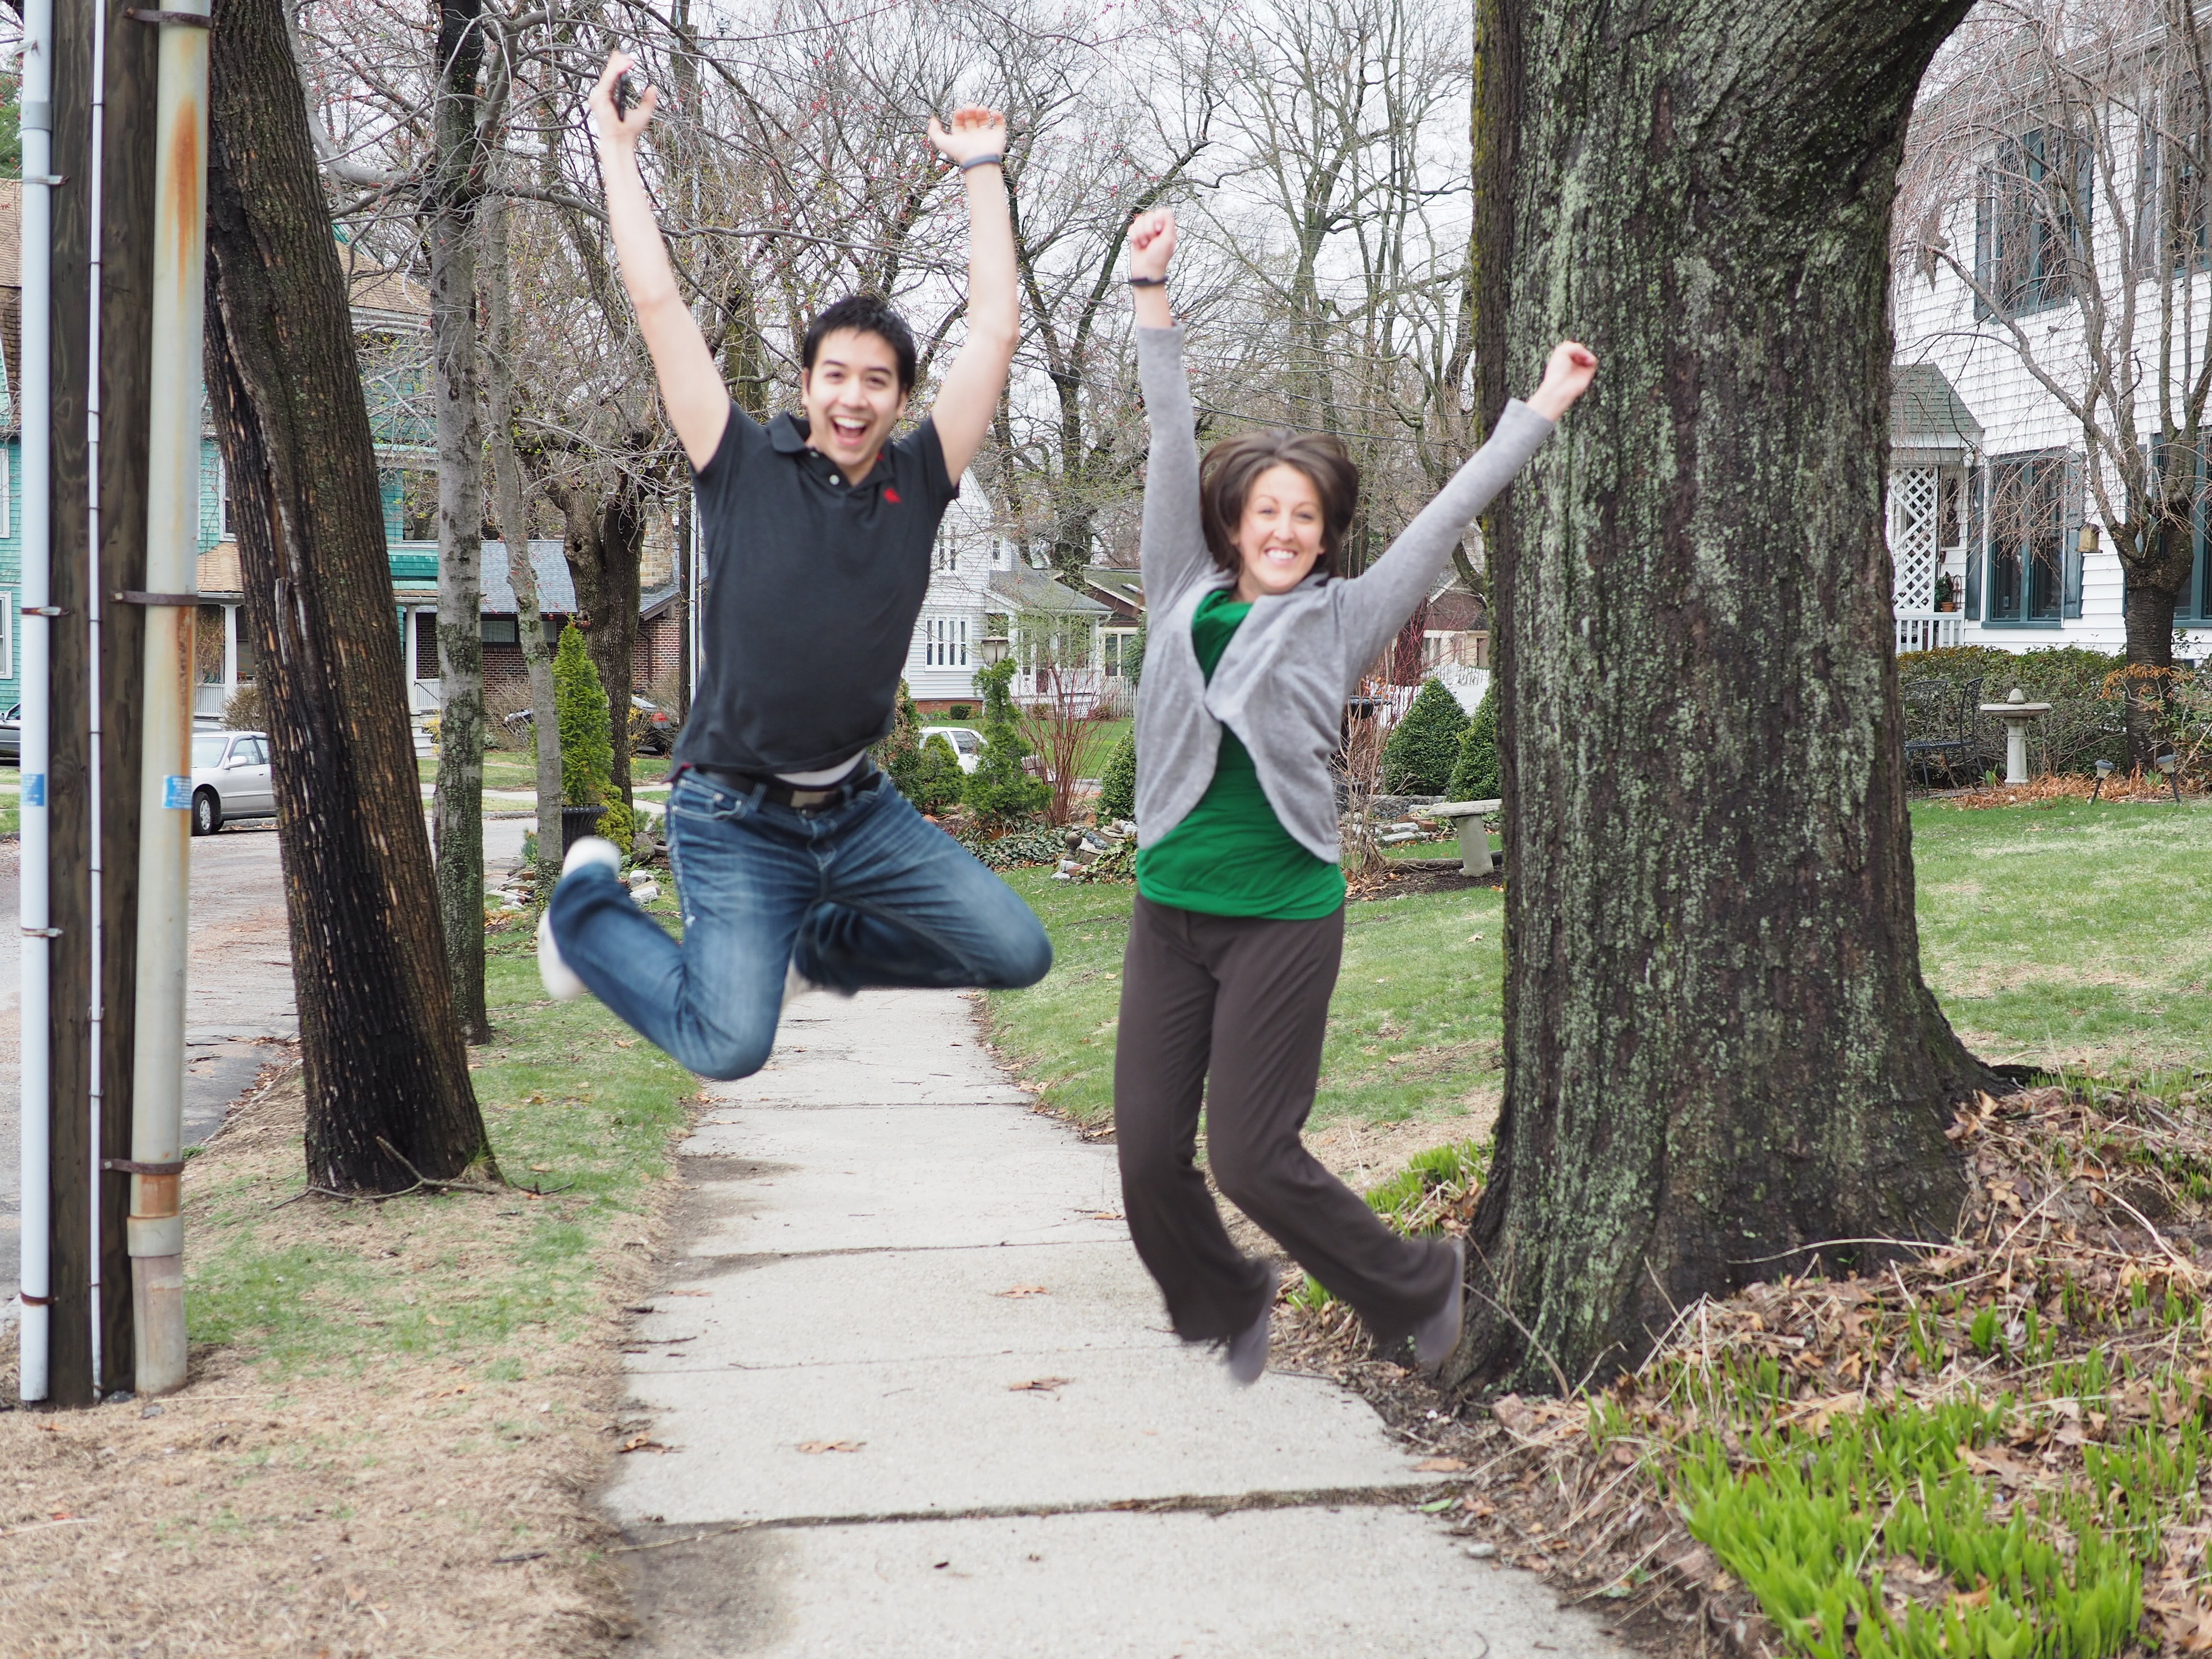
[[[184,1385],[184,978],[192,876],[192,624],[206,305],[208,0],[161,11],[155,82],[153,420],[146,480],[146,752],[139,774],[131,1296],[137,1391]]]

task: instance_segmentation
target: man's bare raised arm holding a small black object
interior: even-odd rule
[[[690,456],[692,467],[706,467],[721,447],[723,427],[730,425],[730,389],[721,383],[714,354],[706,349],[699,321],[690,314],[684,294],[677,290],[677,274],[668,263],[661,228],[653,223],[646,181],[637,173],[637,142],[646,135],[657,97],[648,86],[628,115],[615,111],[615,80],[633,69],[635,60],[628,53],[611,53],[606,69],[599,73],[599,84],[591,88],[591,131],[599,139],[599,184],[606,190],[606,223],[615,234],[615,259],[622,265],[622,285],[630,294],[630,307],[637,312],[637,332],[646,336],[646,349],[653,354],[653,372],[661,380],[661,403],[668,405],[668,418],[675,422],[677,438],[684,442],[684,453]],[[1000,217],[1004,212],[1002,195]],[[1011,292],[1011,230],[1006,248]],[[1000,378],[1004,380],[1004,376],[1002,367]],[[953,476],[958,478],[960,473],[956,471]]]

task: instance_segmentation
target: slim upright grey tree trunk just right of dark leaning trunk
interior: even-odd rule
[[[429,228],[429,334],[438,380],[438,916],[453,1011],[469,1042],[484,1015],[484,422],[476,389],[476,135],[482,0],[438,4],[438,108]]]

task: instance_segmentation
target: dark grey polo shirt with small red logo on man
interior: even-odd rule
[[[695,480],[708,582],[677,759],[761,774],[852,759],[891,730],[929,549],[960,493],[936,425],[847,484],[807,449],[805,416],[763,427],[732,403]]]

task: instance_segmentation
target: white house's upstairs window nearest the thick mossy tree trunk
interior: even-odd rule
[[[2088,259],[2090,164],[2090,148],[2057,126],[1997,146],[1973,215],[1975,321],[2075,296]]]

